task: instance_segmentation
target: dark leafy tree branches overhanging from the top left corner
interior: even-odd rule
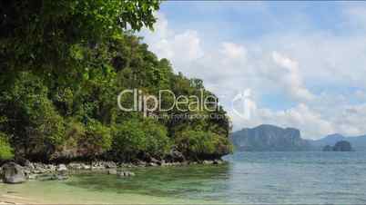
[[[152,29],[158,0],[12,0],[0,2],[0,71],[67,76],[82,71],[79,51],[127,28]],[[8,80],[10,75],[2,80]]]

